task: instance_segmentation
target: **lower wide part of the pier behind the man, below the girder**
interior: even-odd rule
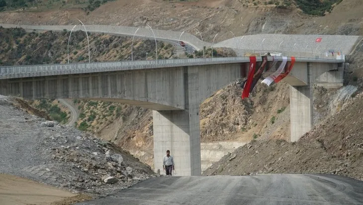
[[[163,171],[170,150],[178,176],[201,175],[199,115],[187,110],[153,111],[154,167]]]

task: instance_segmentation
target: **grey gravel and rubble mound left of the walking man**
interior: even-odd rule
[[[112,143],[26,113],[0,96],[0,173],[103,196],[155,177]],[[16,104],[15,104],[16,105]]]

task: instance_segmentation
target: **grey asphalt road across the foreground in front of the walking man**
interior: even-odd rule
[[[337,175],[159,177],[77,205],[362,205],[363,182]]]

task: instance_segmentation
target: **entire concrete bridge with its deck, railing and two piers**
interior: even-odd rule
[[[169,149],[178,175],[200,175],[199,105],[246,77],[249,61],[234,57],[0,67],[0,95],[111,101],[153,109],[155,171],[162,169]],[[262,59],[257,61],[259,66]],[[312,84],[342,86],[343,68],[344,60],[296,58],[284,79],[291,85],[291,141],[313,126]]]

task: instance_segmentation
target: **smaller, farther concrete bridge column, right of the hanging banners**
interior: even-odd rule
[[[313,76],[307,63],[307,86],[290,85],[290,138],[297,141],[313,128]]]

